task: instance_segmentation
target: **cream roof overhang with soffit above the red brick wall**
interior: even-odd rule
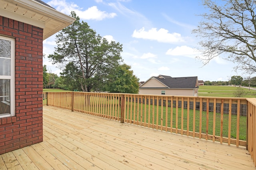
[[[0,4],[0,16],[43,28],[43,39],[76,20],[34,0],[0,0]]]

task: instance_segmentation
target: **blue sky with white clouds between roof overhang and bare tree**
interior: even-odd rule
[[[196,59],[198,41],[192,29],[207,12],[201,0],[44,0],[70,15],[75,11],[97,34],[123,45],[122,59],[140,81],[159,74],[172,77],[198,76],[198,80],[227,81],[236,64],[216,58],[203,66]],[[44,41],[44,54],[54,52],[55,35]],[[60,70],[45,58],[48,70]],[[253,76],[253,75],[252,75]]]

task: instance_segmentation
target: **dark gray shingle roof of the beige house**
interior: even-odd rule
[[[195,77],[171,77],[160,75],[164,78],[156,78],[156,80],[162,82],[169,88],[196,88],[197,76]]]

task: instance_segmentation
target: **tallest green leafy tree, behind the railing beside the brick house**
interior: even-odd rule
[[[76,21],[56,35],[57,47],[48,57],[62,69],[64,82],[79,84],[83,92],[99,90],[97,84],[104,83],[122,62],[122,45],[97,35],[75,12],[71,16]]]

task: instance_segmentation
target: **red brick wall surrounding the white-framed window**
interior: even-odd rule
[[[15,116],[0,118],[0,154],[43,141],[43,29],[0,16],[15,38]]]

